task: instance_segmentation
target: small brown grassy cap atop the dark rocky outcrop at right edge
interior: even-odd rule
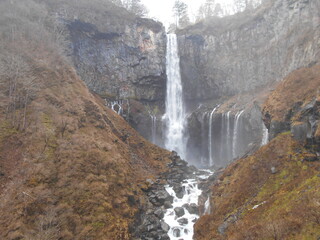
[[[295,106],[308,104],[320,97],[320,65],[301,68],[289,74],[270,94],[263,107],[272,120],[284,122]]]

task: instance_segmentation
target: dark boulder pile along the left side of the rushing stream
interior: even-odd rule
[[[137,215],[136,223],[132,228],[135,240],[170,239],[168,236],[170,226],[163,218],[166,209],[172,208],[173,197],[168,194],[165,186],[167,184],[173,186],[176,191],[183,181],[194,177],[194,171],[198,171],[194,167],[189,167],[187,162],[181,160],[175,152],[172,152],[170,159],[172,162],[168,164],[167,172],[155,182],[147,180],[149,186],[144,189],[147,202],[141,206],[140,214]],[[177,191],[176,193],[178,194]],[[181,189],[181,194],[182,196],[185,194],[184,189]],[[197,206],[188,206],[188,209],[196,212]],[[179,217],[185,214],[184,208],[177,207],[174,210]]]

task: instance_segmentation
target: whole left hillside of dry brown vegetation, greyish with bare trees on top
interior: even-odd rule
[[[0,239],[130,239],[169,153],[89,92],[45,5],[2,1],[0,22]]]

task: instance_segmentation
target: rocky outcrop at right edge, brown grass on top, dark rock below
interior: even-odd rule
[[[270,139],[291,132],[301,143],[315,148],[319,144],[320,66],[292,72],[268,97],[263,107]],[[294,94],[293,94],[294,93]]]

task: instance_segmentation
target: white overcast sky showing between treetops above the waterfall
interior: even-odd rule
[[[205,0],[184,0],[184,2],[189,6],[191,18],[195,17],[200,4],[204,1]],[[174,22],[172,13],[174,2],[175,0],[142,0],[142,3],[149,10],[149,17],[156,18],[166,26]],[[218,0],[217,2],[222,3],[222,5],[229,5],[233,3],[233,0]]]

